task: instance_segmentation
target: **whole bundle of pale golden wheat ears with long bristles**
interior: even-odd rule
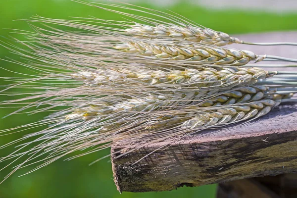
[[[296,59],[221,47],[295,43],[247,43],[177,14],[133,5],[85,4],[130,19],[36,16],[28,20],[32,32],[17,32],[27,36],[19,42],[23,47],[0,44],[25,58],[12,62],[30,71],[2,77],[12,84],[1,95],[17,99],[1,101],[1,106],[17,108],[11,114],[50,112],[42,120],[0,131],[4,135],[36,129],[0,146],[19,144],[0,158],[9,161],[1,170],[13,166],[4,180],[22,167],[40,163],[34,171],[74,151],[82,150],[77,155],[81,156],[123,140],[145,146],[148,140],[160,142],[247,122],[282,102],[296,101],[297,72],[246,65]],[[118,11],[123,9],[140,15]],[[15,164],[20,158],[24,160]]]

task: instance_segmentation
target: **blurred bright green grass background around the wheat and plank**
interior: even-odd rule
[[[203,26],[226,32],[228,34],[267,32],[279,30],[296,30],[296,13],[268,13],[262,11],[243,10],[212,10],[189,3],[178,3],[170,7],[158,7],[145,2],[137,3],[147,7],[177,12]],[[98,8],[90,7],[70,0],[1,0],[0,5],[0,40],[11,42],[10,36],[23,39],[21,35],[11,35],[11,30],[30,30],[25,21],[15,19],[29,19],[32,15],[41,15],[49,18],[65,18],[69,16],[88,17],[95,16],[104,19],[120,19],[119,15],[104,12]],[[3,29],[2,29],[3,28]],[[0,47],[0,59],[9,57],[18,60],[19,57]],[[27,72],[24,68],[0,60],[0,67],[17,72]],[[0,76],[8,77],[15,74],[0,69]],[[0,79],[0,85],[8,82]],[[8,99],[0,95],[0,101]],[[9,98],[12,99],[12,98]],[[11,112],[11,109],[1,108],[0,117]],[[19,126],[25,123],[42,119],[47,113],[35,115],[13,115],[0,119],[0,130]],[[28,130],[26,133],[34,132]],[[0,136],[0,146],[20,138],[24,133]],[[0,157],[13,151],[13,147],[0,150]],[[71,161],[58,160],[49,166],[35,171],[29,175],[18,177],[30,170],[26,167],[19,170],[0,185],[0,198],[179,198],[200,197],[214,198],[216,185],[207,185],[196,188],[183,187],[171,192],[158,193],[122,193],[119,194],[112,179],[111,163],[103,159],[88,166],[90,162],[109,153],[104,150]],[[0,163],[0,169],[4,164]],[[10,169],[0,171],[0,180],[9,173]]]

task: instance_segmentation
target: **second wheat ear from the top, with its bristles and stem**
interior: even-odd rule
[[[77,55],[87,55],[84,59],[88,62],[94,61],[138,61],[141,63],[142,58],[138,59],[135,54],[121,54],[111,48],[119,49],[121,51],[126,51],[130,53],[137,53],[144,56],[152,56],[154,60],[179,60],[179,63],[188,62],[195,64],[221,64],[227,65],[231,64],[234,66],[245,65],[251,60],[254,62],[262,61],[266,58],[272,58],[275,60],[292,61],[297,62],[296,59],[284,58],[272,55],[256,55],[255,53],[247,50],[239,49],[228,49],[219,48],[213,45],[205,45],[200,43],[195,43],[191,41],[168,41],[164,39],[154,39],[154,40],[143,40],[133,37],[127,37],[118,32],[118,30],[108,30],[100,29],[94,25],[88,25],[86,23],[79,23],[76,21],[69,20],[57,20],[57,19],[46,19],[38,18],[34,21],[45,22],[49,24],[59,24],[63,26],[69,26],[77,29],[89,30],[92,33],[72,33],[72,32],[61,32],[55,29],[46,30],[39,27],[34,27],[37,33],[31,33],[30,38],[38,41],[41,45],[47,47],[43,55],[53,57],[53,52],[49,53],[48,47],[52,47],[58,54],[63,52],[63,56],[69,56],[67,61],[77,60],[79,56]],[[94,34],[96,31],[97,34]],[[71,52],[68,52],[71,49]],[[36,49],[35,49],[36,50]],[[36,50],[36,51],[40,51]],[[42,51],[41,51],[42,52]],[[68,53],[67,53],[68,52]],[[77,52],[78,54],[74,54]],[[97,53],[102,55],[101,57],[94,57],[92,54]],[[59,56],[59,55],[58,55]],[[109,58],[108,58],[109,57]],[[66,58],[66,57],[61,57]],[[82,57],[80,57],[82,58]],[[101,59],[103,58],[103,59]],[[89,59],[89,60],[88,60]],[[65,59],[66,60],[66,59]],[[148,62],[148,60],[147,60]],[[152,62],[151,64],[155,64]],[[83,64],[83,61],[81,63]],[[173,62],[170,62],[173,64]]]

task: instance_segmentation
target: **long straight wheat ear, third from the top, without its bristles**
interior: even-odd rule
[[[185,70],[153,70],[142,65],[138,70],[132,69],[107,69],[84,71],[71,74],[75,80],[84,81],[87,85],[105,85],[109,83],[121,84],[123,81],[134,85],[144,84],[152,86],[183,86],[183,87],[212,87],[237,85],[247,86],[258,80],[272,77],[275,72],[268,72],[257,67],[233,67],[233,68],[210,68],[185,69]],[[119,85],[120,86],[120,85]],[[214,88],[215,89],[215,88]]]

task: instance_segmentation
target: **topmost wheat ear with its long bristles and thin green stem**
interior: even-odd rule
[[[225,46],[228,44],[247,44],[247,45],[260,45],[260,46],[274,46],[274,45],[292,45],[297,46],[297,43],[292,42],[277,42],[277,43],[252,43],[242,41],[236,37],[229,36],[228,34],[220,31],[215,31],[210,28],[199,25],[178,14],[170,14],[160,10],[154,10],[137,5],[127,4],[128,6],[104,4],[104,3],[88,3],[81,0],[73,0],[86,5],[98,7],[110,12],[114,12],[131,18],[127,21],[114,21],[98,18],[79,18],[81,20],[61,20],[49,19],[44,17],[34,17],[31,21],[39,21],[51,24],[64,24],[70,27],[82,28],[88,31],[111,30],[113,32],[126,33],[129,36],[139,37],[142,39],[172,39],[171,41],[189,41],[200,44],[209,44],[215,46]],[[126,3],[122,3],[126,4]],[[112,7],[112,8],[108,8]],[[119,11],[117,9],[124,9],[127,12]],[[131,14],[129,11],[137,11],[139,14]],[[142,16],[145,14],[146,16]],[[151,16],[151,17],[148,17]],[[157,19],[158,18],[158,19]],[[134,20],[140,22],[134,22]],[[169,21],[169,22],[165,22]],[[90,23],[92,25],[88,25]],[[100,24],[102,28],[96,27],[93,24]],[[144,23],[144,24],[143,24]],[[109,27],[109,26],[117,26]]]

